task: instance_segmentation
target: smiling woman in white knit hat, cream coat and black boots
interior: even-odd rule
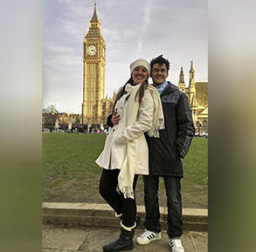
[[[138,174],[149,174],[149,153],[144,133],[158,137],[163,111],[156,88],[149,85],[149,62],[136,59],[131,78],[116,95],[113,114],[120,116],[110,129],[104,150],[96,163],[103,168],[100,194],[121,218],[121,234],[103,247],[106,252],[134,248],[136,227],[135,184]],[[113,118],[114,118],[113,117]]]

